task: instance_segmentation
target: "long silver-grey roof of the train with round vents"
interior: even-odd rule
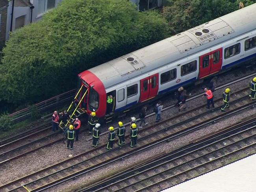
[[[256,4],[89,69],[105,89],[255,30]],[[83,77],[81,77],[83,78]]]

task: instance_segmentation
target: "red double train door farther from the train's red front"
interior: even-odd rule
[[[200,56],[199,61],[199,78],[218,72],[222,65],[222,48]]]

